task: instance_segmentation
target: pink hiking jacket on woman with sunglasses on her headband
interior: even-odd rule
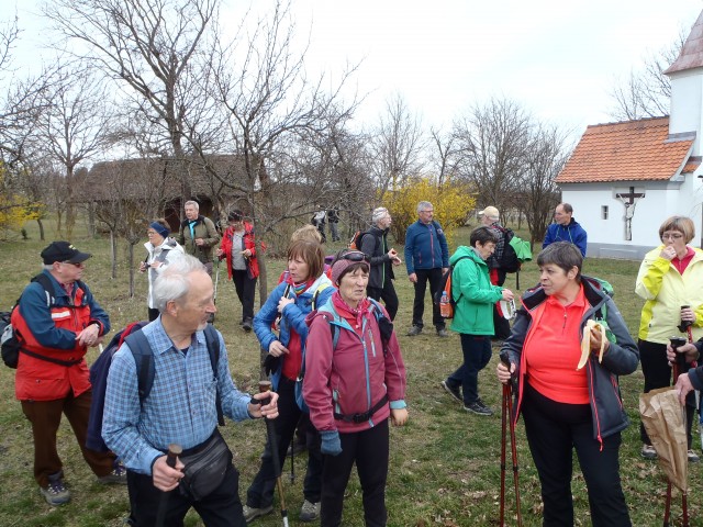
[[[387,419],[391,408],[405,407],[405,365],[398,338],[393,332],[384,354],[373,309],[370,306],[365,313],[364,338],[334,312],[331,300],[308,315],[303,396],[310,407],[310,419],[320,431],[366,430]],[[338,327],[336,349],[333,349],[333,324]],[[384,396],[388,402],[369,418],[359,422],[335,418],[335,414],[349,417],[365,414]]]

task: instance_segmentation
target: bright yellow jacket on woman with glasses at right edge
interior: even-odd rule
[[[650,250],[639,266],[635,293],[645,299],[638,337],[649,343],[667,344],[669,337],[681,336],[681,306],[695,312],[693,341],[703,337],[703,250],[695,254],[680,274],[673,265],[659,256],[663,245]]]

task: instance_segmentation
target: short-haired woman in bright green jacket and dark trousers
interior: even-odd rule
[[[488,227],[471,232],[471,247],[460,246],[449,258],[451,296],[456,302],[450,329],[461,336],[464,363],[442,381],[444,389],[464,403],[464,410],[491,415],[491,408],[479,397],[478,377],[491,360],[493,305],[499,300],[513,300],[509,289],[491,284],[486,260],[495,250],[498,237]],[[462,389],[464,395],[459,388]]]

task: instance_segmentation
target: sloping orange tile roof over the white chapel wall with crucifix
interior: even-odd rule
[[[668,180],[691,155],[693,137],[669,136],[669,117],[595,124],[585,130],[557,183]]]

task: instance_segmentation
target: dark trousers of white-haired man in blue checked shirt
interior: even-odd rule
[[[150,475],[127,471],[132,500],[132,518],[137,527],[156,525],[159,505],[166,501],[164,527],[182,527],[186,514],[193,507],[207,527],[246,527],[239,501],[239,473],[230,463],[222,484],[196,502],[179,487],[165,493],[154,486]]]

